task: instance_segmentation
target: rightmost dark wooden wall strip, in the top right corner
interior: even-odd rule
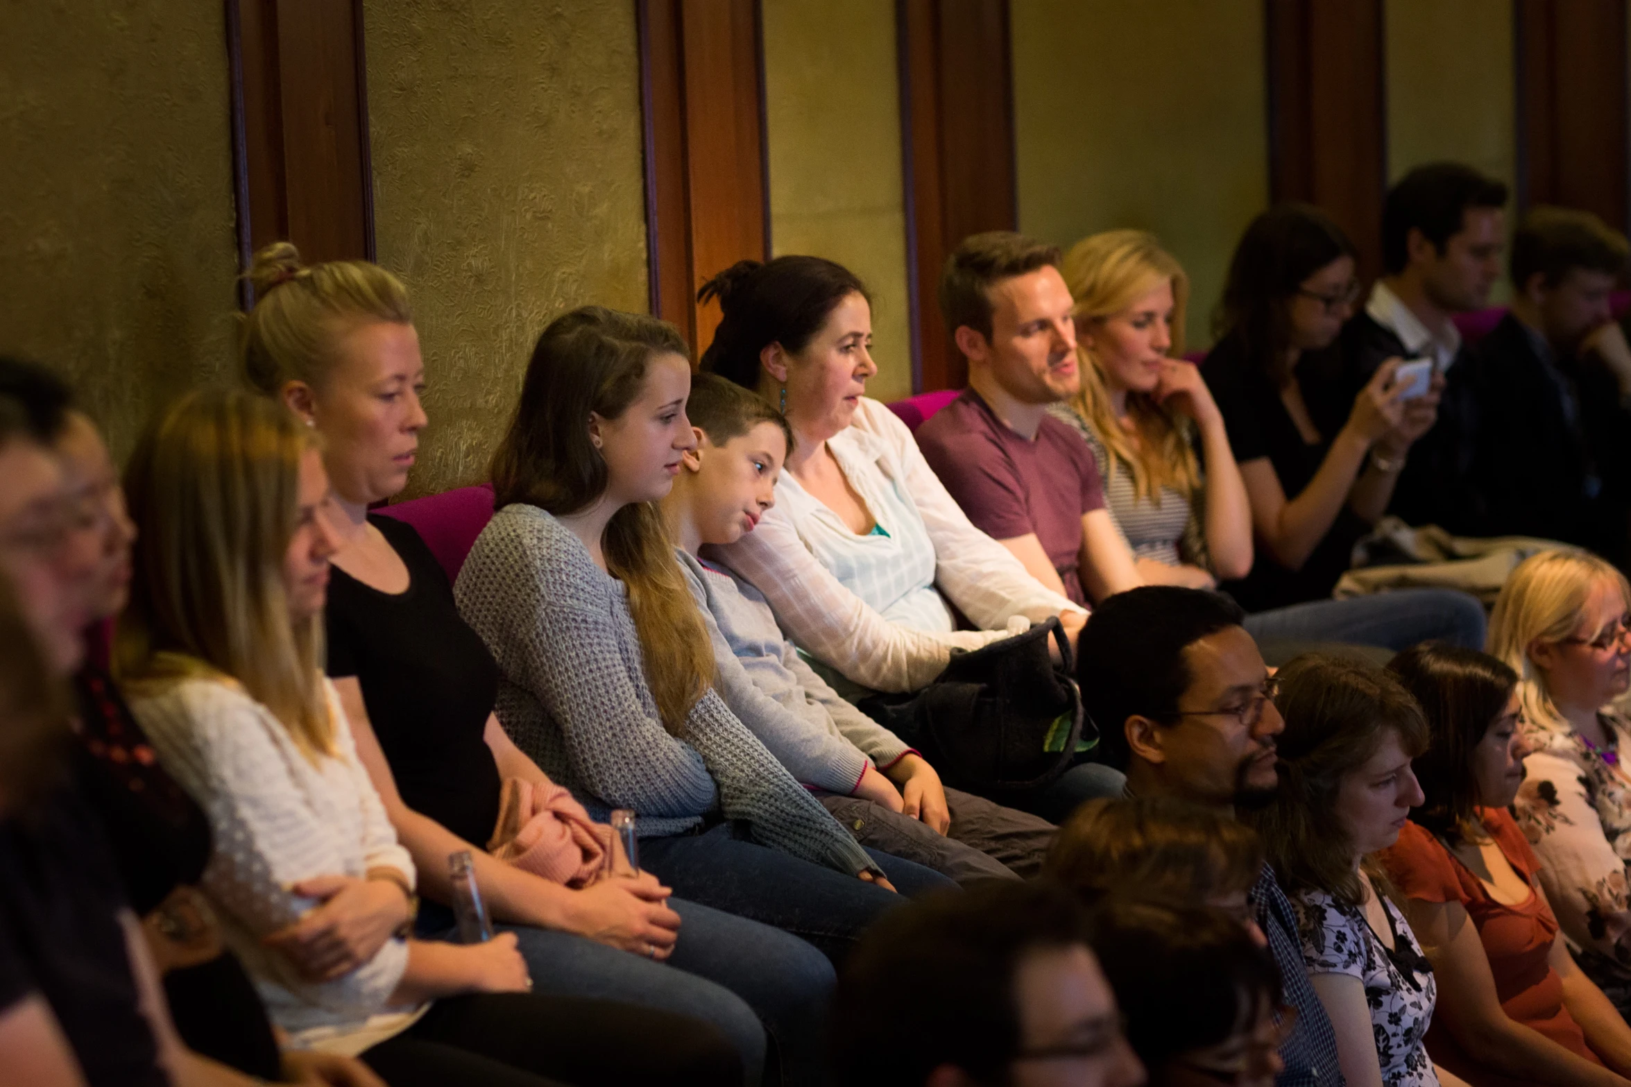
[[[1517,0],[1518,209],[1628,218],[1624,0]]]

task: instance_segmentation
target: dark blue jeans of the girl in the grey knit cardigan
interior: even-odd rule
[[[879,914],[939,887],[956,887],[920,864],[866,851],[900,895],[749,841],[734,823],[698,834],[641,838],[639,867],[674,893],[802,937],[840,962]]]

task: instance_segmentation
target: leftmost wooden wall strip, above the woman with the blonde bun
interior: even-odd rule
[[[240,266],[277,240],[372,261],[362,0],[225,2]]]

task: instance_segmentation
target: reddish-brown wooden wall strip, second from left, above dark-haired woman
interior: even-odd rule
[[[770,257],[757,0],[638,0],[651,311],[701,350],[719,306],[701,282]]]

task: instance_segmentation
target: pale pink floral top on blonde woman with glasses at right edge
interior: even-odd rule
[[[1540,880],[1576,960],[1631,1012],[1631,722],[1598,714],[1598,751],[1572,728],[1530,724],[1532,755],[1512,813],[1540,857]]]

